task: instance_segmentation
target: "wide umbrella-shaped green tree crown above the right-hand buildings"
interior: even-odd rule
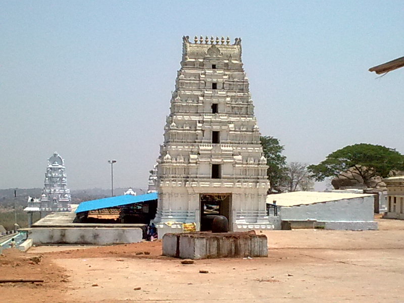
[[[317,181],[326,177],[341,177],[350,170],[369,186],[376,176],[385,178],[392,171],[404,170],[404,156],[393,148],[359,143],[334,151],[324,161],[310,165],[308,169]]]

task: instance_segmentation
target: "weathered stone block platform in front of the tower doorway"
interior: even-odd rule
[[[163,256],[181,259],[268,257],[266,235],[250,232],[167,233]]]

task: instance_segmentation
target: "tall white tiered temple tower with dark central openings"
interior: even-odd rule
[[[233,231],[271,229],[270,186],[254,105],[241,61],[241,39],[183,37],[157,166],[155,222],[196,223],[215,215]],[[160,236],[160,235],[159,235]]]

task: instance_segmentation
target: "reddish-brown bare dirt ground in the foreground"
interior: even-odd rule
[[[161,241],[5,250],[0,279],[44,283],[0,284],[0,301],[402,302],[404,221],[377,221],[378,231],[267,231],[268,258],[193,265],[161,256]]]

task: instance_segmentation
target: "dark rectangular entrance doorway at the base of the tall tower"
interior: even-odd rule
[[[200,231],[212,230],[213,219],[225,216],[231,224],[231,193],[201,193],[200,200]]]

